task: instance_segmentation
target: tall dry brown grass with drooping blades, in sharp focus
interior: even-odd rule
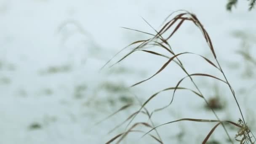
[[[236,98],[236,94],[235,91],[233,90],[231,84],[229,83],[229,81],[227,80],[226,74],[223,71],[223,69],[221,68],[221,64],[218,61],[218,57],[216,56],[215,53],[215,49],[213,47],[213,43],[211,41],[210,36],[208,35],[208,32],[205,30],[205,28],[203,27],[203,24],[201,24],[201,22],[199,21],[199,19],[197,19],[197,16],[195,16],[195,14],[190,13],[188,11],[176,11],[176,13],[179,12],[178,14],[176,14],[176,16],[174,16],[173,19],[169,20],[168,19],[173,16],[174,13],[171,13],[164,21],[163,26],[161,27],[161,29],[159,31],[155,30],[153,27],[152,29],[154,29],[154,31],[156,32],[156,34],[151,34],[151,33],[147,33],[147,32],[142,32],[136,29],[131,29],[137,32],[141,32],[144,33],[146,35],[150,35],[151,38],[147,39],[147,40],[137,40],[133,43],[131,43],[130,45],[128,45],[125,48],[130,48],[133,47],[132,50],[126,54],[125,56],[123,56],[119,61],[117,61],[115,64],[119,63],[120,61],[123,61],[125,58],[127,58],[128,56],[130,56],[132,53],[137,52],[137,51],[141,51],[144,53],[150,53],[152,55],[157,55],[157,56],[161,56],[161,57],[165,57],[167,59],[167,61],[160,67],[160,69],[155,72],[154,75],[152,75],[151,77],[139,81],[138,83],[135,83],[133,85],[131,85],[131,87],[134,87],[136,85],[139,85],[141,83],[144,83],[147,80],[150,80],[152,77],[155,77],[156,75],[159,75],[171,62],[174,62],[175,64],[177,64],[180,69],[183,70],[183,72],[187,75],[183,78],[181,78],[178,83],[176,85],[174,85],[173,87],[170,88],[165,88],[162,91],[158,91],[155,94],[153,94],[152,96],[149,96],[149,98],[144,101],[143,103],[140,104],[140,108],[134,112],[132,115],[129,115],[127,117],[127,119],[125,119],[122,123],[120,123],[120,125],[117,125],[115,128],[113,128],[110,132],[114,131],[116,128],[120,127],[121,125],[123,125],[124,123],[128,122],[128,125],[126,126],[126,129],[123,133],[118,134],[117,136],[113,137],[112,139],[110,139],[109,141],[107,141],[107,144],[112,143],[114,141],[116,141],[117,143],[120,143],[123,139],[125,139],[125,137],[128,135],[128,133],[133,133],[133,132],[139,132],[139,133],[144,133],[143,136],[145,135],[149,135],[152,137],[152,139],[154,139],[155,141],[159,142],[159,143],[163,143],[161,137],[160,137],[160,133],[157,132],[157,128],[164,126],[164,125],[168,125],[171,123],[177,123],[180,121],[193,121],[193,122],[200,122],[200,123],[216,123],[216,125],[209,131],[209,133],[205,134],[205,138],[202,141],[202,144],[205,144],[209,137],[211,136],[211,134],[215,131],[215,129],[221,125],[222,128],[224,129],[225,133],[227,134],[227,137],[229,138],[229,141],[231,143],[233,143],[233,139],[232,137],[235,137],[236,141],[240,141],[241,144],[245,144],[245,143],[251,143],[253,144],[256,139],[253,136],[253,133],[251,132],[250,128],[248,128],[248,125],[245,121],[245,118],[243,116],[243,112],[241,110],[241,107],[239,105],[239,102],[237,101]],[[147,22],[147,21],[146,21]],[[181,25],[184,24],[184,22],[192,22],[193,24],[195,24],[195,27],[197,27],[203,34],[204,40],[206,41],[206,43],[208,44],[209,50],[211,51],[211,54],[213,55],[213,58],[215,61],[211,61],[208,58],[197,54],[197,53],[191,53],[191,52],[182,52],[182,53],[174,53],[171,45],[168,43],[169,40],[171,40],[172,36],[178,31],[178,29],[181,28]],[[149,24],[149,23],[147,23]],[[150,24],[149,24],[150,26]],[[150,26],[151,27],[151,26]],[[125,28],[125,27],[124,27]],[[125,29],[129,29],[129,28],[125,28]],[[163,36],[165,35],[165,37]],[[167,35],[167,37],[166,37]],[[181,40],[184,41],[184,40]],[[167,51],[169,53],[168,56],[163,55],[162,53],[158,53],[152,50],[149,50],[148,47],[159,47],[159,48],[163,48],[163,50]],[[123,48],[121,51],[123,51],[125,48]],[[120,52],[119,52],[120,53]],[[117,53],[118,54],[118,53]],[[116,54],[116,55],[117,55]],[[209,75],[207,73],[188,73],[187,69],[184,67],[184,65],[182,64],[182,61],[179,59],[179,56],[181,55],[185,55],[185,54],[190,54],[190,55],[196,55],[202,58],[202,61],[206,61],[211,67],[214,67],[216,69],[216,71],[219,71],[221,73],[221,75],[223,75],[224,79],[221,79],[219,77],[216,77],[214,75]],[[115,55],[115,56],[116,56]],[[115,57],[114,56],[114,57]],[[107,64],[111,61],[112,59],[110,59]],[[107,65],[105,64],[104,67]],[[115,65],[113,64],[113,65]],[[112,67],[113,65],[111,65],[110,67]],[[240,113],[240,119],[237,122],[232,122],[230,120],[220,120],[219,116],[216,114],[215,110],[210,107],[208,100],[205,98],[205,96],[203,95],[203,93],[200,91],[200,88],[197,86],[197,84],[195,83],[193,77],[210,77],[216,81],[220,81],[224,84],[227,85],[227,88],[230,90],[233,98],[235,99],[236,105],[237,105],[237,112]],[[191,83],[194,85],[196,90],[192,90],[189,88],[184,88],[184,87],[180,87],[179,85],[181,84],[181,82],[184,79],[189,79],[191,81]],[[178,90],[187,90],[187,91],[191,91],[192,93],[195,94],[195,96],[197,96],[200,99],[203,99],[205,101],[205,104],[209,106],[209,108],[211,109],[213,115],[216,117],[216,120],[207,120],[207,119],[194,119],[194,118],[182,118],[179,120],[173,120],[170,121],[168,123],[163,123],[161,125],[157,125],[155,126],[154,123],[151,120],[151,117],[153,114],[155,114],[156,112],[162,111],[163,109],[166,109],[167,107],[169,107],[172,103],[173,103],[173,98],[175,96],[176,91]],[[173,91],[172,97],[168,103],[168,105],[165,105],[159,109],[154,109],[152,112],[149,112],[146,109],[146,105],[149,103],[149,101],[151,101],[152,99],[154,99],[155,97],[158,96],[159,93],[163,92],[163,91]],[[124,109],[127,109],[131,106],[133,106],[134,104],[127,104],[123,107],[121,107],[119,110],[117,110],[116,112],[114,112],[112,115],[109,115],[109,117],[117,114],[117,112],[123,111]],[[143,114],[143,115],[147,115],[147,117],[149,118],[149,122],[140,122],[140,123],[134,123],[133,125],[131,125],[131,122],[134,120],[134,118],[139,115],[139,114]],[[109,118],[107,117],[107,118]],[[107,119],[106,118],[106,119]],[[106,120],[104,119],[104,120]],[[239,128],[239,131],[237,131],[237,134],[235,136],[230,136],[226,125],[233,125],[237,128]],[[144,127],[150,128],[150,131],[144,132],[144,131],[139,131],[139,130],[135,130],[135,128],[138,125],[143,125]],[[151,131],[155,131],[157,133],[157,136],[154,136],[152,134],[150,134]]]

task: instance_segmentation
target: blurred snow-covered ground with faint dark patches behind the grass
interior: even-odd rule
[[[254,111],[256,65],[237,51],[255,57],[256,10],[239,0],[232,12],[227,0],[0,0],[0,144],[102,144],[124,132],[125,125],[107,134],[139,109],[134,106],[95,125],[128,103],[144,102],[186,74],[176,64],[151,80],[129,88],[153,75],[167,61],[136,52],[112,68],[99,69],[126,45],[149,38],[139,29],[155,34],[173,11],[195,13],[208,31],[219,62],[237,94],[251,131],[256,133]],[[185,22],[169,42],[175,53],[189,51],[214,60],[200,30]],[[108,66],[129,50],[120,53]],[[189,73],[220,72],[194,55],[180,56]],[[241,118],[229,87],[207,77],[195,77],[207,99],[219,97],[221,120]],[[189,79],[182,87],[192,88]],[[151,112],[170,101],[172,91],[149,102]],[[155,125],[181,118],[216,119],[205,102],[189,91],[177,91],[173,104],[152,116]],[[135,122],[147,122],[139,115]],[[199,144],[215,123],[179,122],[158,128],[166,144]],[[131,125],[130,125],[131,126]],[[149,131],[144,127],[143,131]],[[238,129],[227,125],[232,138]],[[155,135],[153,131],[152,134]],[[155,144],[143,133],[131,133],[122,143]],[[219,126],[211,144],[225,144]],[[214,143],[215,142],[215,143]]]

